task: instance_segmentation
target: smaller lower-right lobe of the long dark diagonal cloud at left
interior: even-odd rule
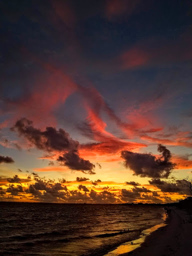
[[[59,156],[57,161],[63,163],[72,170],[80,170],[84,173],[95,174],[93,171],[95,165],[89,160],[85,160],[79,156],[78,151],[72,150]]]

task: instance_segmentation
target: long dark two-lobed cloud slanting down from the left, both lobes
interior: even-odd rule
[[[32,121],[21,118],[16,121],[11,130],[16,131],[20,136],[24,136],[31,145],[44,151],[66,151],[63,156],[58,157],[58,161],[70,169],[80,170],[84,173],[94,174],[95,165],[89,160],[79,156],[79,143],[69,137],[63,129],[56,130],[54,127],[46,127],[44,131],[33,127]],[[52,161],[49,162],[52,165]]]

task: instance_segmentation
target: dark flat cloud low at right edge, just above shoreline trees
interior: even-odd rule
[[[160,178],[152,178],[148,182],[149,184],[158,187],[162,192],[177,192],[179,194],[190,195],[190,191],[186,186],[187,181],[185,179],[177,179],[175,182],[167,182],[160,180]]]

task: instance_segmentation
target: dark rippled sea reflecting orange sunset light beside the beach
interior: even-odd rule
[[[103,256],[163,213],[160,205],[0,202],[0,255]]]

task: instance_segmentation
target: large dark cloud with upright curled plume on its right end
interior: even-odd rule
[[[157,150],[162,153],[158,158],[151,153],[134,153],[131,151],[121,151],[125,167],[133,170],[134,175],[141,177],[165,177],[167,178],[175,163],[170,161],[171,153],[163,145],[158,144]]]

